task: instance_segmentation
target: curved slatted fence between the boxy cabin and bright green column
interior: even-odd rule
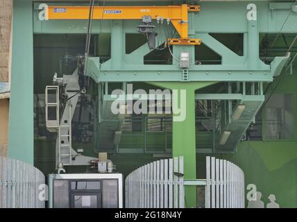
[[[125,205],[133,208],[183,208],[183,157],[139,167],[125,180]]]

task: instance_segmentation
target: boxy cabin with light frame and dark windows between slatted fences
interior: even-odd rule
[[[49,175],[50,208],[121,208],[121,173]]]

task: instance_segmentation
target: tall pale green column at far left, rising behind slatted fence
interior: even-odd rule
[[[14,1],[8,157],[33,164],[33,4]]]

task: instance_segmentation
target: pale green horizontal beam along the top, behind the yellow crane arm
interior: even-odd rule
[[[189,24],[191,22],[194,27],[189,28],[191,33],[248,33],[248,20],[246,9],[248,3],[245,1],[230,2],[207,2],[201,1],[201,11],[189,12]],[[267,1],[255,1],[257,6],[257,20],[260,33],[296,33],[297,8],[292,6],[294,2],[269,3]],[[63,3],[65,5],[65,3]],[[117,3],[119,4],[119,3]],[[146,3],[149,5],[157,5],[154,3]],[[79,5],[79,3],[77,3]],[[160,4],[158,4],[160,5]],[[85,21],[40,21],[38,19],[39,3],[34,4],[34,33],[85,33]],[[292,10],[285,26],[282,28],[288,13]],[[223,12],[223,16],[222,16]],[[193,21],[192,19],[193,16]],[[124,33],[137,33],[135,27],[141,21],[125,21]],[[135,26],[136,25],[136,26]],[[105,21],[102,32],[110,33],[110,21]],[[92,33],[100,32],[100,21],[94,21]],[[203,41],[203,40],[202,40]]]

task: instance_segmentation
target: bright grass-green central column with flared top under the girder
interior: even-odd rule
[[[196,180],[196,129],[195,129],[195,90],[201,89],[215,82],[201,83],[150,83],[167,89],[176,89],[178,107],[173,106],[173,113],[179,109],[185,112],[183,121],[172,123],[172,155],[184,157],[185,180]],[[185,97],[183,96],[185,90]],[[175,101],[173,101],[175,102]],[[185,105],[185,106],[184,106]],[[175,117],[178,115],[174,115]],[[185,187],[185,207],[196,207],[196,187]]]

